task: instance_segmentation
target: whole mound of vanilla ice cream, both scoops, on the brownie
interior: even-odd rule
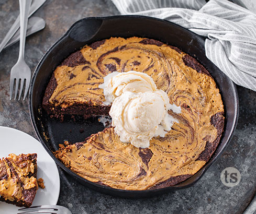
[[[153,79],[141,72],[113,72],[104,77],[105,104],[112,106],[112,126],[122,142],[141,148],[149,147],[152,137],[164,137],[174,122],[168,110],[180,113],[170,104],[168,95],[157,89]]]

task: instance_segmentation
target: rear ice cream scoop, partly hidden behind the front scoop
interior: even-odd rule
[[[154,80],[149,75],[133,70],[124,73],[113,72],[107,75],[99,88],[103,89],[106,105],[110,105],[116,97],[126,91],[138,93],[157,90]]]

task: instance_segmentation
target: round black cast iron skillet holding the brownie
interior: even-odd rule
[[[97,118],[90,120],[76,120],[73,122],[50,118],[41,108],[42,98],[46,90],[48,81],[53,70],[67,56],[83,45],[110,37],[146,37],[160,40],[173,46],[179,47],[185,53],[197,58],[210,74],[214,77],[225,106],[225,132],[221,137],[217,150],[207,164],[194,174],[190,179],[172,186],[161,189],[146,191],[126,191],[114,189],[107,186],[95,184],[87,181],[69,170],[52,154],[58,150],[59,144],[68,139],[71,142],[83,141],[87,136],[103,130],[104,127],[97,121]],[[43,147],[48,151],[54,161],[67,173],[72,175],[77,181],[96,191],[119,196],[119,197],[149,197],[173,191],[175,189],[186,188],[198,181],[205,171],[212,165],[227,147],[238,120],[238,95],[233,82],[222,73],[205,56],[205,41],[199,35],[186,30],[169,21],[144,16],[112,16],[112,17],[92,17],[84,18],[74,23],[74,25],[55,42],[39,62],[31,80],[29,91],[29,110],[32,125],[37,137]]]

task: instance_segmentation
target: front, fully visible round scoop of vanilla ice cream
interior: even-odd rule
[[[147,148],[152,137],[163,137],[172,124],[178,122],[168,114],[170,106],[169,98],[162,90],[125,91],[115,98],[109,115],[121,141]]]

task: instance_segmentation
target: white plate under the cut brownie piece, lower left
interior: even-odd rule
[[[42,177],[46,188],[38,188],[32,206],[56,205],[60,194],[60,176],[57,166],[38,140],[17,129],[0,126],[0,158],[9,153],[37,153],[37,178]],[[0,201],[0,214],[18,213],[19,207]]]

